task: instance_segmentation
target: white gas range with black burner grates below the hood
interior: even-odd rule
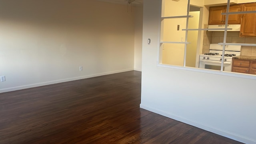
[[[206,54],[200,54],[199,68],[220,70],[222,61],[222,47],[223,46],[219,44],[210,44],[210,52]],[[224,71],[231,72],[232,57],[239,56],[240,53],[241,46],[226,46],[223,65]]]

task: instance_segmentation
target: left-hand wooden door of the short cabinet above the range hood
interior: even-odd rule
[[[226,6],[210,7],[209,24],[224,24],[224,15]]]

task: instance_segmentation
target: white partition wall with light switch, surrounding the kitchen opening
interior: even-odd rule
[[[255,144],[256,81],[158,67],[160,6],[160,0],[144,1],[140,107],[240,142]],[[148,38],[151,38],[150,45]]]

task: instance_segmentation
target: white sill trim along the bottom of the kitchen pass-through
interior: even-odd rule
[[[247,79],[256,80],[256,75],[252,75],[252,74],[226,72],[226,71],[220,71],[220,70],[208,70],[208,69],[204,69],[204,68],[192,68],[192,67],[186,67],[186,66],[173,66],[173,65],[167,65],[167,64],[157,64],[157,66],[162,67],[162,68],[188,70],[188,71],[192,71],[192,72],[203,72],[203,73],[208,73],[208,74],[218,74],[218,75],[222,75],[222,76],[232,76],[232,77],[237,77],[237,78],[247,78]]]

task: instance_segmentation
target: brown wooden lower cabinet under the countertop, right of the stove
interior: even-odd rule
[[[256,74],[256,60],[232,60],[232,72]]]

